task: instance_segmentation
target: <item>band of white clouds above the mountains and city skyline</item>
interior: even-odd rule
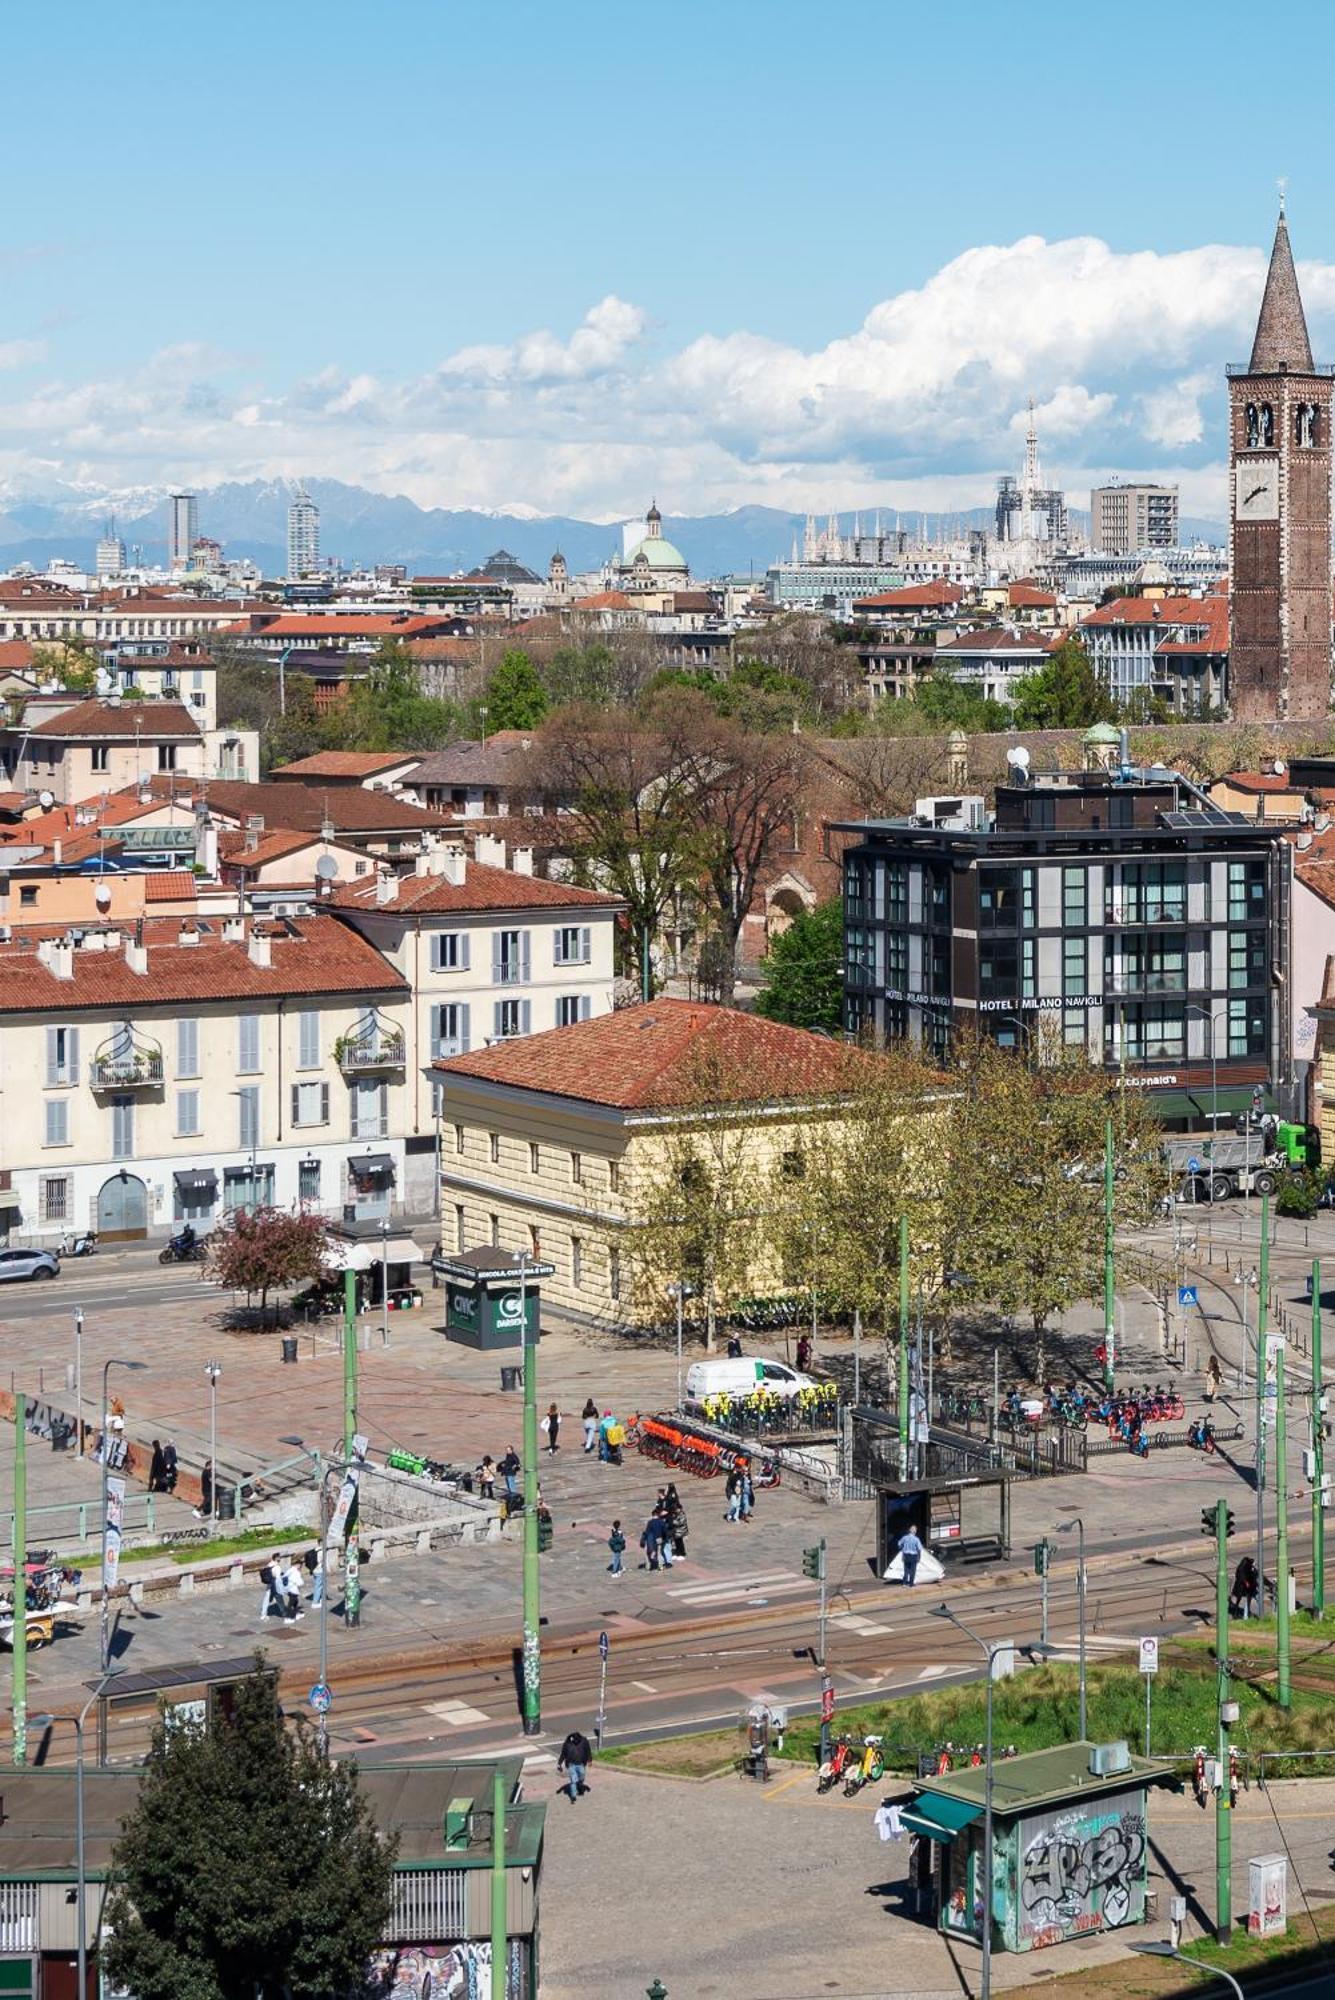
[[[186,344],[106,382],[0,398],[0,472],[212,484],[328,474],[424,504],[616,518],[673,510],[987,504],[1015,470],[1027,400],[1049,478],[1177,466],[1215,490],[1223,362],[1247,352],[1263,252],[1159,254],[1097,238],[965,250],[815,350],[759,332],[671,344],[600,300],[574,330],[466,346],[394,378],[326,366],[286,386],[254,358]],[[1335,318],[1335,266],[1301,266]],[[0,346],[0,368],[20,366]],[[36,356],[22,354],[26,364]]]

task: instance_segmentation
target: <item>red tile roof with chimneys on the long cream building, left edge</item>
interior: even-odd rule
[[[252,964],[244,942],[224,938],[218,918],[210,918],[210,930],[200,932],[198,944],[180,944],[180,918],[150,916],[144,920],[148,972],[130,970],[124,944],[110,952],[80,946],[68,980],[56,978],[36,956],[40,934],[24,932],[22,938],[0,944],[0,1014],[72,1014],[86,1008],[134,1012],[206,1000],[408,992],[408,980],[338,918],[282,918],[260,926],[270,936],[268,966]],[[122,940],[134,936],[134,926],[104,928],[118,930]]]

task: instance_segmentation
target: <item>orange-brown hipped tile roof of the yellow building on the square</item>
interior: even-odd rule
[[[735,1008],[652,1000],[574,1028],[452,1056],[436,1070],[444,1078],[478,1076],[512,1090],[648,1110],[699,1102],[705,1076],[715,1102],[829,1098],[853,1062],[857,1052],[845,1042],[805,1028],[785,1028]]]

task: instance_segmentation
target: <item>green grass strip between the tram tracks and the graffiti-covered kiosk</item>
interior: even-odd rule
[[[1133,1750],[1145,1748],[1145,1682],[1133,1668],[1089,1668],[1089,1736],[1111,1742],[1123,1736]],[[1269,1688],[1233,1684],[1241,1716],[1233,1742],[1241,1752],[1319,1750],[1335,1748],[1335,1712],[1323,1694],[1293,1690],[1293,1708],[1275,1706]],[[917,1774],[919,1750],[937,1744],[981,1744],[985,1730],[985,1688],[941,1688],[935,1694],[915,1694],[903,1702],[877,1702],[843,1708],[835,1728],[855,1736],[881,1734],[889,1770]],[[1215,1676],[1209,1668],[1167,1666],[1153,1686],[1155,1756],[1189,1756],[1193,1744],[1215,1738]],[[1079,1734],[1079,1672],[1075,1666],[1039,1666],[993,1690],[993,1742],[1015,1744],[1019,1752],[1047,1750],[1073,1742]],[[819,1724],[795,1718],[787,1730],[793,1756],[815,1762]],[[1311,1766],[1269,1764],[1267,1776],[1311,1776]]]

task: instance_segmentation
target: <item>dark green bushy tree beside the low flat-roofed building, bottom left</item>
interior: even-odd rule
[[[224,1714],[164,1718],[114,1848],[106,1972],[138,2000],[364,1992],[392,1914],[396,1840],[354,1762],[284,1726],[256,1658]]]

